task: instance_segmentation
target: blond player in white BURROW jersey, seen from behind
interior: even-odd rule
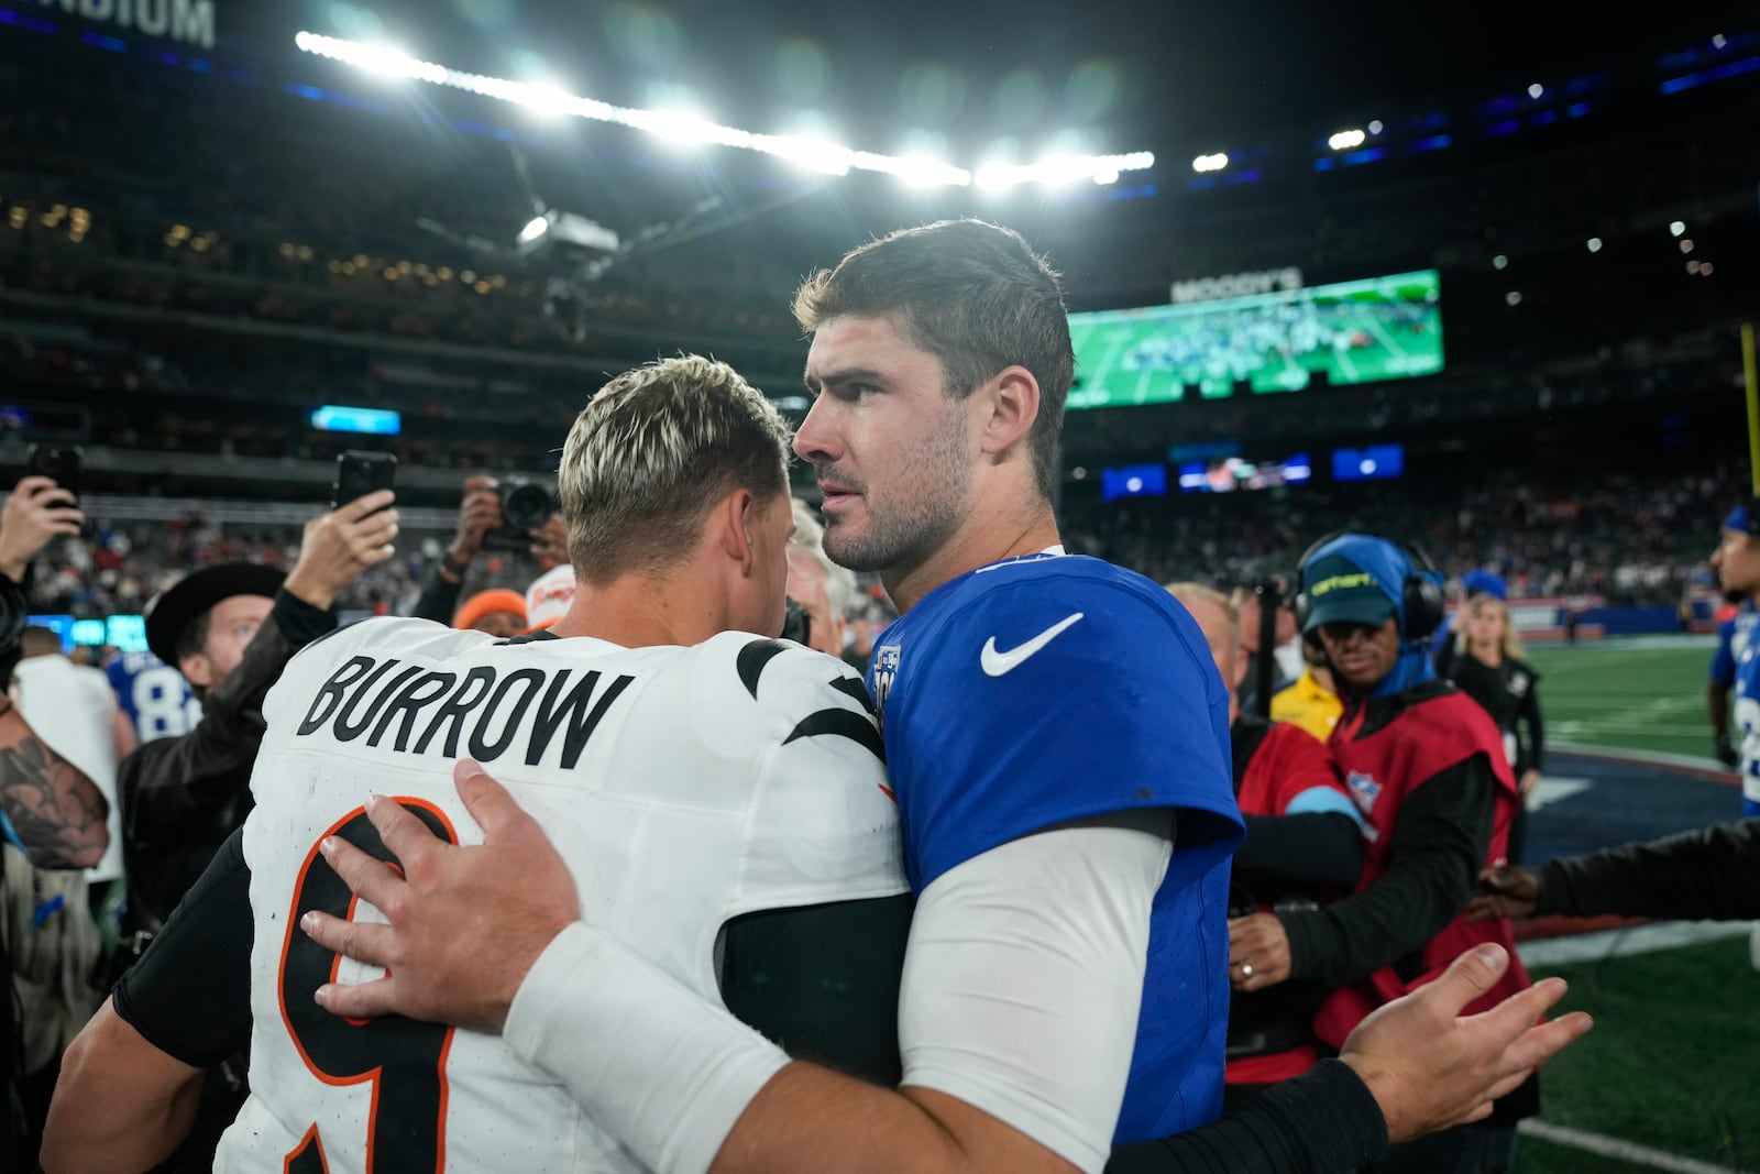
[[[459,801],[461,755],[512,783],[565,845],[581,908],[655,973],[896,1081],[910,901],[880,734],[841,660],[767,639],[787,445],[725,364],[625,373],[563,449],[577,590],[560,621],[496,639],[368,620],[296,657],[264,706],[257,806],[69,1051],[44,1167],[153,1167],[201,1070],[248,1035],[253,1091],[215,1169],[642,1169],[502,1038],[313,1002],[361,972],[301,919],[371,915],[329,847],[385,855],[370,815],[391,806],[463,845],[498,825],[493,803]],[[363,806],[371,792],[391,797]]]

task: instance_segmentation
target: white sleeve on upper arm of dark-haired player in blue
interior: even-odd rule
[[[1137,1038],[1167,811],[1014,840],[919,898],[899,993],[905,1084],[1105,1167]]]

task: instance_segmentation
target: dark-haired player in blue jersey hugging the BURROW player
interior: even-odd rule
[[[319,996],[338,1016],[503,1030],[656,1170],[1098,1170],[1114,1139],[1220,1107],[1241,838],[1228,699],[1160,586],[1063,553],[1051,498],[1070,333],[1056,276],[1019,234],[973,220],[892,234],[813,276],[796,315],[815,396],[796,452],[818,473],[825,551],[878,570],[901,613],[869,688],[917,892],[903,1084],[790,1061],[669,979],[567,908],[576,882],[523,824],[472,854],[375,808],[410,880],[345,843],[329,861],[389,926],[313,912],[303,928],[392,977]],[[583,889],[604,884],[604,866],[581,868]],[[1473,979],[1417,1003],[1440,1049],[1426,1065],[1450,1068],[1441,1053],[1478,1037],[1434,1016],[1505,961],[1473,956]],[[1556,994],[1503,1023],[1531,1026]],[[1512,1056],[1475,1044],[1466,1067],[1531,1067],[1582,1026],[1542,1028]],[[1223,1141],[1158,1155],[1162,1169],[1295,1169],[1315,1148],[1348,1169],[1387,1128],[1480,1111],[1484,1090],[1457,1100],[1440,1068],[1390,1084],[1324,1061],[1292,1093],[1315,1100],[1221,1123]],[[1383,1126],[1369,1090],[1394,1084],[1426,1104],[1387,1100]]]

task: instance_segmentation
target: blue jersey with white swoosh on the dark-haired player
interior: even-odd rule
[[[1030,554],[931,591],[876,641],[868,672],[917,892],[1054,824],[1177,810],[1118,1141],[1214,1119],[1243,824],[1228,695],[1192,616],[1135,572]]]

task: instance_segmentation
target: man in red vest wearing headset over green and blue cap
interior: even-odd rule
[[[1441,576],[1413,547],[1362,533],[1329,535],[1302,556],[1295,614],[1318,632],[1345,715],[1329,741],[1366,820],[1362,880],[1327,906],[1251,914],[1228,926],[1237,991],[1288,979],[1332,993],[1315,1033],[1332,1047],[1371,1010],[1436,979],[1482,942],[1514,945],[1508,921],[1468,922],[1480,868],[1503,862],[1519,803],[1498,727],[1466,693],[1436,679],[1431,637],[1443,618]],[[1484,1010],[1529,986],[1512,961]],[[1491,1118],[1394,1146],[1371,1170],[1492,1174],[1515,1151],[1515,1121],[1538,1111],[1529,1077]]]

